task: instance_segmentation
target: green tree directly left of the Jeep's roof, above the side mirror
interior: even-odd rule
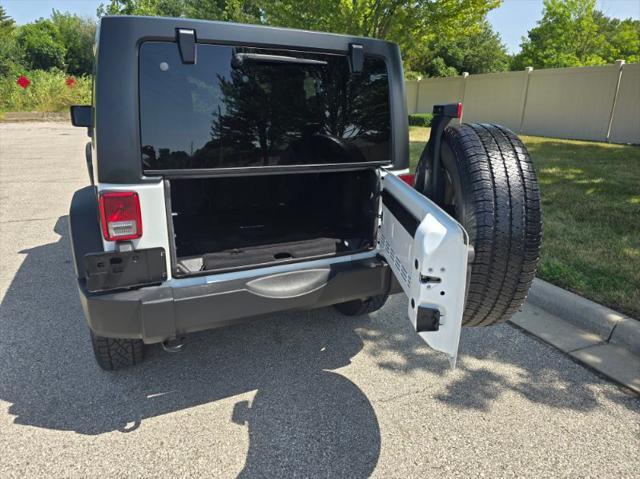
[[[89,75],[93,69],[93,42],[96,24],[90,18],[53,10],[51,22],[65,47],[67,71],[74,75]]]

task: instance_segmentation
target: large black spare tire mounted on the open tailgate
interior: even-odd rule
[[[529,153],[498,125],[462,124],[443,135],[441,205],[475,250],[462,324],[509,319],[526,299],[538,265],[540,193]],[[428,184],[429,171],[426,172]]]

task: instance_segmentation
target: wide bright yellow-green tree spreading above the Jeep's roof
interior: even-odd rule
[[[483,19],[500,1],[111,0],[100,6],[98,15],[186,16],[382,38],[398,43],[405,67],[413,69],[426,63],[435,41],[444,45],[486,34]],[[471,55],[466,58],[468,63]]]

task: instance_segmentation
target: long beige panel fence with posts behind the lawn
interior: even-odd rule
[[[464,104],[465,123],[525,135],[640,143],[640,64],[463,74],[406,82],[409,113]]]

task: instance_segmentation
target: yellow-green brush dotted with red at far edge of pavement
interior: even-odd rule
[[[17,79],[23,73],[31,83],[21,88]],[[71,85],[69,78],[74,81]],[[70,105],[91,103],[91,77],[71,77],[61,71],[14,72],[0,78],[0,111],[65,111]]]

